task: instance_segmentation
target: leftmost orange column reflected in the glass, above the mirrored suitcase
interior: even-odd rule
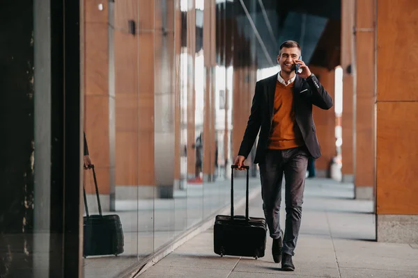
[[[84,131],[88,150],[98,177],[102,208],[109,209],[109,35],[108,6],[99,1],[84,1]],[[93,175],[84,172],[86,193],[94,194]],[[88,196],[88,199],[91,199]],[[95,204],[95,202],[88,202]],[[97,206],[97,205],[96,205]],[[94,209],[94,208],[91,208]]]

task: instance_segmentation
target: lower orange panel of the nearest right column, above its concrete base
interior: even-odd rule
[[[378,102],[377,212],[418,214],[418,102]]]

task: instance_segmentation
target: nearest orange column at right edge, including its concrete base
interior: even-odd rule
[[[418,2],[377,5],[377,239],[417,243]]]

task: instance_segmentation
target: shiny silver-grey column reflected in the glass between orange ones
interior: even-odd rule
[[[172,198],[175,166],[174,1],[154,3],[154,172],[158,198]],[[140,8],[141,9],[141,8]],[[141,16],[139,17],[141,19]],[[139,51],[143,46],[139,45]],[[140,68],[142,67],[141,62]],[[146,71],[146,67],[144,67]],[[141,88],[141,83],[139,83]],[[141,93],[139,94],[141,101]],[[145,133],[142,135],[145,136]],[[141,154],[139,154],[141,156]],[[144,161],[145,162],[145,161]]]

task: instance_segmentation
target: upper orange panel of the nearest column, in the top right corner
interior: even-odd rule
[[[416,0],[378,0],[379,101],[418,101],[417,13]]]

